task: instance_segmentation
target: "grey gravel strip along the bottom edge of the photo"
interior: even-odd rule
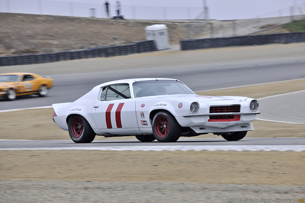
[[[0,180],[0,202],[281,202],[303,199],[304,185],[236,185],[172,182]],[[244,199],[248,198],[248,200]],[[277,201],[276,198],[279,200]],[[249,201],[252,200],[252,201]],[[267,202],[267,201],[263,201]],[[282,201],[284,202],[284,201]],[[286,201],[287,202],[287,201]],[[292,201],[293,202],[293,201]]]

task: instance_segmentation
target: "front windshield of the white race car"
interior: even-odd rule
[[[175,80],[148,80],[132,84],[135,97],[169,94],[195,94],[187,86]]]

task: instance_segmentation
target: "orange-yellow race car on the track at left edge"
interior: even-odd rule
[[[0,97],[15,100],[17,96],[38,94],[44,97],[53,86],[53,79],[33,73],[0,74]]]

